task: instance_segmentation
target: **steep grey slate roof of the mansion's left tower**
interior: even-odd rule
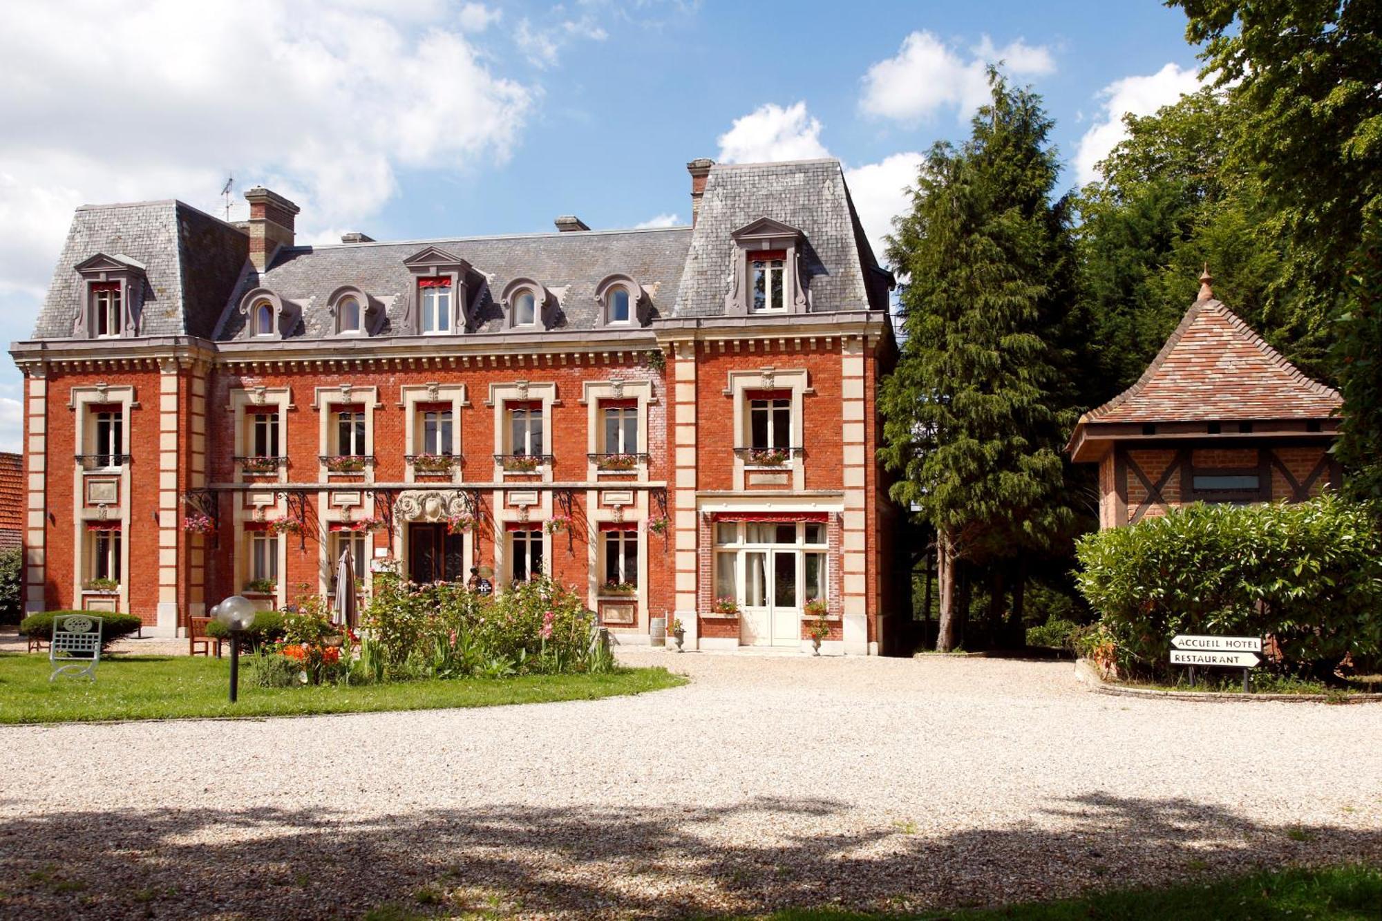
[[[87,205],[72,217],[35,339],[72,335],[82,296],[76,266],[95,253],[144,266],[140,333],[210,336],[249,256],[239,228],[177,201]]]

